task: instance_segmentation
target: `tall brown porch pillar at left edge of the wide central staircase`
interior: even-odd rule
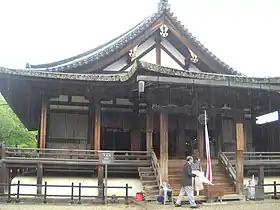
[[[160,168],[162,180],[168,180],[168,114],[160,113]]]

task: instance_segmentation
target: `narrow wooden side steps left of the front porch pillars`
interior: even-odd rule
[[[153,167],[139,167],[138,172],[145,193],[145,200],[156,200],[159,195],[159,186]]]

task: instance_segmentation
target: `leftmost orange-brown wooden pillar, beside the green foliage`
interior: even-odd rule
[[[46,138],[47,138],[47,100],[42,99],[41,106],[41,122],[40,122],[40,149],[46,148]]]

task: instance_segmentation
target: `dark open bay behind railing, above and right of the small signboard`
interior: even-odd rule
[[[101,129],[101,150],[129,151],[131,148],[130,130],[106,128]]]

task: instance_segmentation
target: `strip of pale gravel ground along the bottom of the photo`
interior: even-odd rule
[[[79,210],[87,210],[87,209],[94,209],[94,210],[120,210],[120,209],[132,209],[132,210],[156,210],[156,209],[189,209],[188,206],[183,206],[181,208],[175,208],[170,205],[157,205],[152,203],[143,203],[141,205],[51,205],[51,204],[0,204],[0,209],[7,209],[7,210],[68,210],[68,209],[79,209]],[[203,205],[199,209],[204,210],[278,210],[280,209],[280,202],[277,201],[265,201],[265,202],[246,202],[246,203],[224,203],[224,204],[208,204]]]

